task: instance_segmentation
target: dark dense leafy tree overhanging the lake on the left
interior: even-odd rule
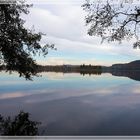
[[[48,53],[54,45],[40,45],[42,33],[26,29],[21,14],[28,14],[32,5],[23,1],[0,5],[0,64],[7,71],[18,71],[20,76],[31,79],[36,75],[37,64],[33,55]]]

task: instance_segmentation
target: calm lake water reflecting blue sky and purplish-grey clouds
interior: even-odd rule
[[[140,81],[127,77],[41,73],[33,81],[0,76],[0,114],[20,110],[39,121],[40,135],[140,135]]]

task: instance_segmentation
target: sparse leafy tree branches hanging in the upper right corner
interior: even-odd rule
[[[99,36],[102,41],[135,39],[133,47],[140,47],[140,7],[132,0],[86,0],[82,5],[88,13],[85,20],[90,36]]]

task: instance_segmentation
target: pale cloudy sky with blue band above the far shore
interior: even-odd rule
[[[35,59],[42,65],[105,65],[127,63],[140,59],[140,50],[133,49],[132,41],[101,44],[101,38],[87,35],[85,0],[29,0],[33,3],[28,15],[23,15],[25,26],[46,34],[41,44],[55,44],[44,58]]]

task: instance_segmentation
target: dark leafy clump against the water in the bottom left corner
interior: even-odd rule
[[[21,111],[14,119],[0,115],[0,135],[34,136],[38,135],[39,122],[29,119],[29,113]]]

